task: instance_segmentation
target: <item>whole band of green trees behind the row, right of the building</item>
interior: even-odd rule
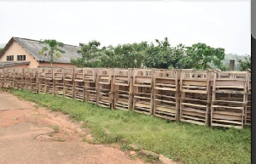
[[[193,44],[185,47],[178,44],[172,47],[168,38],[163,41],[119,44],[116,47],[100,48],[101,43],[91,41],[81,43],[82,58],[72,59],[79,67],[121,67],[121,68],[194,68],[209,69],[217,66],[225,70],[222,65],[224,48],[212,48],[205,43]]]

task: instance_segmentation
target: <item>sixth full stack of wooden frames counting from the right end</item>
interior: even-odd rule
[[[97,105],[113,108],[113,69],[98,69],[96,79]]]

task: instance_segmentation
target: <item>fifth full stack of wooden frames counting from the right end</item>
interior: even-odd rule
[[[114,98],[113,108],[120,110],[132,109],[133,69],[114,69],[113,87]]]

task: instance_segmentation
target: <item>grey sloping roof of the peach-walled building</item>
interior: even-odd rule
[[[41,43],[36,40],[20,38],[20,37],[13,37],[16,42],[20,44],[22,48],[26,50],[27,53],[31,54],[37,61],[49,62],[50,57],[49,55],[39,54],[42,48],[47,47],[49,48],[48,44]],[[64,44],[62,51],[65,51],[64,54],[61,53],[61,58],[57,58],[54,55],[54,63],[71,63],[71,59],[81,58],[82,54],[78,53],[79,47]],[[45,52],[47,54],[47,52]]]

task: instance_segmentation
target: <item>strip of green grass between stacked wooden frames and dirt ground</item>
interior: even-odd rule
[[[133,111],[110,110],[74,99],[14,90],[51,110],[61,110],[90,127],[96,144],[128,144],[185,163],[251,163],[251,128],[210,128],[170,122]]]

